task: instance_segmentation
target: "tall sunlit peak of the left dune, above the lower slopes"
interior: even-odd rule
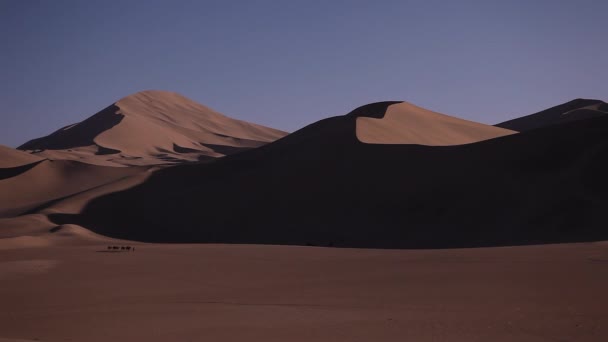
[[[221,157],[285,134],[229,118],[176,93],[150,90],[19,148],[49,159],[151,165]]]

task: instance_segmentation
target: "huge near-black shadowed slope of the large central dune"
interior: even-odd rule
[[[357,118],[381,118],[392,104],[215,163],[160,170],[82,214],[51,219],[157,242],[444,248],[608,239],[608,118],[458,146],[361,143]]]

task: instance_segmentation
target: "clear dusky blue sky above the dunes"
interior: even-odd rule
[[[145,89],[293,131],[405,100],[497,123],[608,100],[608,1],[0,0],[0,144]]]

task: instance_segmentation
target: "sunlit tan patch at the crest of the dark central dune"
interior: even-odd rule
[[[383,118],[357,118],[357,138],[368,144],[462,145],[514,133],[407,102],[390,105]]]

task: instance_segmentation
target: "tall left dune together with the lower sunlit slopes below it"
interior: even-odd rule
[[[95,197],[143,181],[150,166],[213,160],[285,134],[176,93],[140,92],[21,150],[0,146],[0,218],[78,212]]]

